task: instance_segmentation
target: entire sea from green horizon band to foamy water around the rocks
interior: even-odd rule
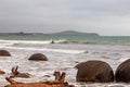
[[[53,41],[53,44],[52,44]],[[65,72],[66,82],[76,87],[130,87],[129,83],[79,83],[76,82],[78,63],[100,60],[108,63],[113,71],[130,59],[129,36],[100,37],[0,37],[0,49],[8,50],[11,57],[0,57],[0,87],[10,84],[5,77],[11,69],[18,65],[22,73],[31,74],[30,78],[14,79],[22,83],[53,80],[54,71]],[[48,61],[29,61],[34,53],[43,53]]]

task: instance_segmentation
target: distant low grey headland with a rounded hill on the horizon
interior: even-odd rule
[[[64,30],[58,33],[51,33],[51,34],[43,34],[43,33],[0,33],[0,36],[6,36],[6,35],[16,35],[16,36],[100,36],[96,33],[81,33],[81,32],[75,32],[75,30]]]

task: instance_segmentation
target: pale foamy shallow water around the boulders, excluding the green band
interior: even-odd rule
[[[0,57],[0,69],[6,74],[0,75],[0,86],[9,84],[4,77],[9,76],[12,66],[20,66],[21,72],[30,73],[30,78],[15,78],[20,82],[53,80],[53,72],[66,72],[66,80],[76,87],[129,87],[125,83],[77,83],[77,65],[88,60],[107,62],[115,71],[125,60],[130,58],[130,46],[121,45],[83,45],[83,44],[50,44],[50,41],[11,41],[0,40],[0,49],[11,52],[12,57]],[[28,61],[32,53],[43,53],[49,61]],[[49,75],[50,77],[48,77]]]

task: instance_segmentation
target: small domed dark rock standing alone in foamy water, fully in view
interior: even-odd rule
[[[30,58],[28,60],[48,61],[48,58],[44,54],[42,54],[42,53],[35,53],[35,54],[30,55]]]

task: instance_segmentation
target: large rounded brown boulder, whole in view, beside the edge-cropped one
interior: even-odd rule
[[[108,83],[114,82],[112,67],[103,61],[87,61],[76,65],[77,82]]]

